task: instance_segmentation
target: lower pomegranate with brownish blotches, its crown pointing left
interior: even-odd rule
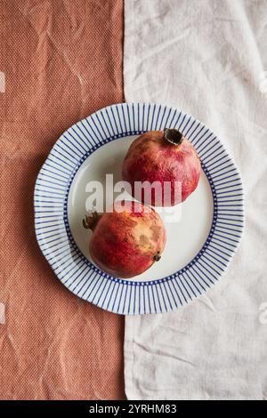
[[[155,210],[139,202],[120,201],[107,213],[83,220],[93,230],[89,251],[93,262],[116,277],[134,277],[160,260],[166,230]]]

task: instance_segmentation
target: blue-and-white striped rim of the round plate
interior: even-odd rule
[[[196,147],[214,200],[212,226],[193,260],[171,276],[138,282],[109,276],[78,249],[69,228],[68,197],[85,159],[110,141],[165,127]],[[77,296],[124,315],[179,309],[205,293],[227,269],[244,226],[242,181],[223,144],[177,109],[150,103],[110,106],[71,126],[55,143],[36,179],[36,238],[55,274]]]

